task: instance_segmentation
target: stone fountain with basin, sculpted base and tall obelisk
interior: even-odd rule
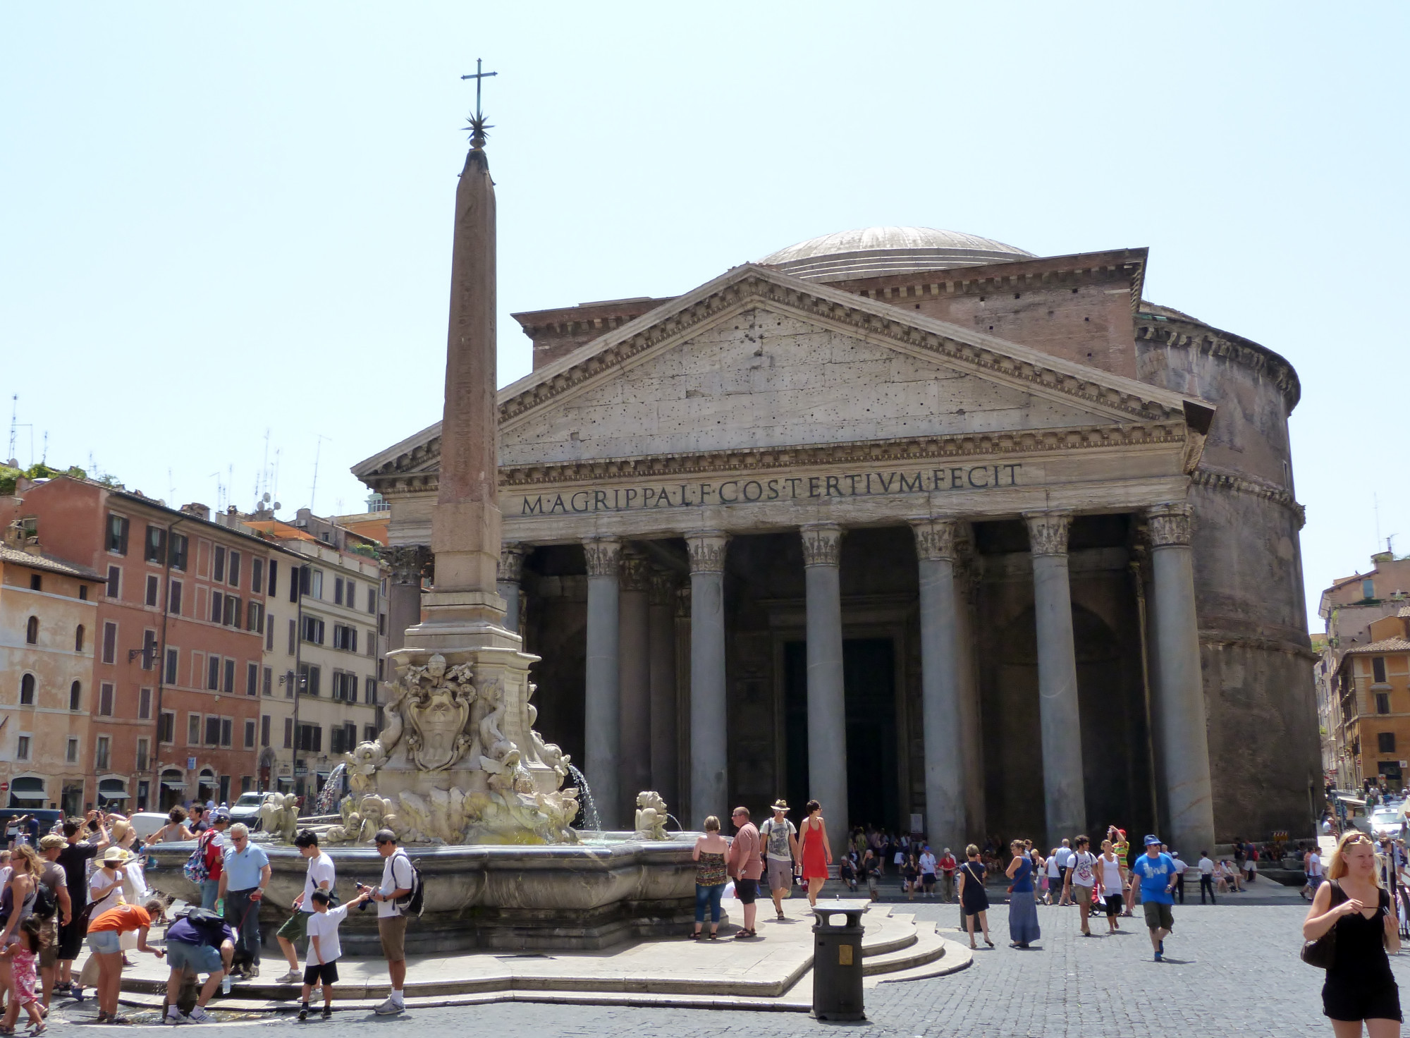
[[[496,587],[495,196],[478,111],[471,128],[455,192],[434,587],[422,598],[424,619],[386,654],[396,674],[386,725],[344,755],[351,794],[336,824],[314,828],[344,898],[354,880],[381,883],[374,834],[391,829],[407,848],[424,879],[424,911],[406,934],[413,953],[596,949],[684,934],[694,918],[692,835],[667,835],[667,805],[650,791],[637,798],[634,832],[584,839],[572,828],[580,793],[589,828],[601,826],[598,808],[581,771],[534,731],[529,667],[537,657],[505,625]],[[570,774],[578,786],[564,787]],[[330,777],[334,791],[340,784]],[[305,860],[289,846],[292,797],[265,800],[274,876],[261,924],[274,934],[303,889]],[[189,845],[152,848],[161,865],[154,886],[195,897],[180,869],[189,853]],[[351,955],[375,955],[375,914],[352,912],[341,941]]]

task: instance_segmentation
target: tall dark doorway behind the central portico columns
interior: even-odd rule
[[[888,637],[842,643],[847,709],[847,822],[900,824],[895,750],[895,649]],[[795,817],[808,802],[808,647],[784,643],[787,795]],[[823,814],[828,805],[823,804]]]

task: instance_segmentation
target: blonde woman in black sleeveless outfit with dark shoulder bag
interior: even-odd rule
[[[1323,984],[1323,1013],[1337,1038],[1399,1038],[1400,989],[1386,952],[1400,951],[1393,900],[1376,877],[1376,849],[1356,829],[1341,838],[1303,922],[1317,941],[1337,928],[1337,953]]]

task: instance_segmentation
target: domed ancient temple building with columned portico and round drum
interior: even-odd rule
[[[654,788],[949,846],[1311,831],[1297,375],[1146,302],[1146,261],[873,227],[516,315],[501,594],[605,825]],[[354,468],[391,647],[439,458],[437,423]]]

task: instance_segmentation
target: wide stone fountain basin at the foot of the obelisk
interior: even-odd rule
[[[684,935],[695,918],[697,834],[643,841],[609,832],[592,842],[547,846],[470,845],[406,848],[426,884],[424,911],[406,929],[407,952],[592,951],[623,941]],[[303,890],[306,860],[298,849],[262,843],[271,880],[259,921],[268,944]],[[196,887],[182,872],[193,842],[149,848],[158,867],[147,881],[190,901]],[[378,886],[382,856],[367,845],[324,848],[347,901],[354,883]],[[378,955],[376,905],[348,912],[340,928],[348,955]]]

